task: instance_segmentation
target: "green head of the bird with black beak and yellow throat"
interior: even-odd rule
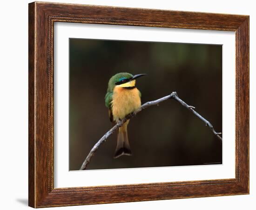
[[[108,92],[112,92],[115,86],[130,88],[135,87],[136,79],[146,74],[132,75],[130,73],[122,72],[112,76],[108,81]]]

